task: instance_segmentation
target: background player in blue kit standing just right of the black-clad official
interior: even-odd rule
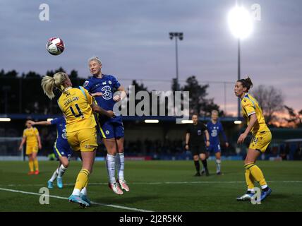
[[[215,153],[216,157],[216,173],[217,175],[221,174],[221,148],[220,148],[220,140],[219,134],[222,134],[224,138],[225,145],[229,147],[229,143],[227,142],[227,136],[224,133],[224,129],[222,127],[221,122],[218,120],[218,112],[217,110],[213,110],[211,114],[211,121],[207,122],[207,131],[210,134],[210,146],[207,148],[208,152]],[[203,172],[202,172],[203,174]]]

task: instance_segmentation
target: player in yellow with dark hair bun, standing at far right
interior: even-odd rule
[[[253,83],[250,81],[250,78],[246,78],[238,80],[234,89],[235,95],[241,98],[241,112],[243,117],[248,121],[248,127],[246,128],[246,131],[239,136],[237,143],[243,143],[246,136],[248,136],[248,133],[253,133],[246,160],[244,161],[248,191],[243,196],[238,197],[238,201],[251,199],[255,192],[255,181],[260,184],[262,189],[261,201],[272,193],[272,189],[267,186],[267,182],[265,181],[261,169],[255,165],[259,155],[265,152],[270,141],[272,141],[272,133],[270,132],[270,129],[268,129],[267,124],[265,124],[265,118],[263,117],[261,107],[258,105],[258,101],[248,93],[248,90],[250,90],[250,87],[252,86]]]

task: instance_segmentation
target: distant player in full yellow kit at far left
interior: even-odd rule
[[[37,128],[32,127],[29,121],[26,121],[25,125],[28,127],[23,131],[23,138],[19,146],[19,150],[22,150],[24,143],[26,142],[26,155],[28,155],[28,165],[30,167],[29,175],[39,174],[39,163],[37,160],[38,150],[42,148],[39,131]],[[35,166],[35,170],[34,170]]]

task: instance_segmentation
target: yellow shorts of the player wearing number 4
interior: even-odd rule
[[[94,128],[66,131],[67,141],[75,151],[94,151],[97,148],[97,130]]]

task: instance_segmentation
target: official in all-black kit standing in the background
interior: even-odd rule
[[[203,167],[205,168],[205,174],[209,176],[209,170],[207,169],[207,157],[206,157],[206,148],[210,145],[210,137],[209,133],[207,132],[207,127],[198,122],[198,114],[192,115],[193,124],[188,126],[186,131],[186,150],[191,150],[193,155],[193,160],[196,168],[195,176],[200,176],[200,165],[199,159],[203,162]],[[203,136],[205,134],[205,138]]]

